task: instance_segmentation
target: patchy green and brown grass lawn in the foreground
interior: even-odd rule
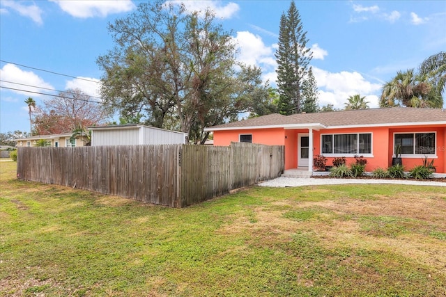
[[[444,187],[252,187],[185,209],[15,178],[0,296],[446,296]]]

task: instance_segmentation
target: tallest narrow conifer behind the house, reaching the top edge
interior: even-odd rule
[[[279,113],[300,113],[302,108],[301,88],[307,75],[307,66],[312,53],[307,49],[307,31],[303,31],[299,11],[294,1],[286,15],[282,13],[279,27],[279,42],[275,54],[277,61],[277,88],[279,89]]]

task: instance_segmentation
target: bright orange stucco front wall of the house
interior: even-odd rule
[[[372,171],[378,167],[387,168],[392,165],[392,154],[394,147],[394,133],[435,131],[437,135],[437,158],[434,165],[439,173],[446,172],[446,127],[368,127],[349,129],[323,129],[313,131],[313,155],[321,152],[321,134],[348,134],[348,133],[371,133],[372,134],[372,156],[366,156],[367,166],[365,170]],[[307,134],[308,129],[245,129],[231,131],[214,131],[214,145],[230,145],[231,142],[238,142],[240,134],[252,134],[253,143],[264,145],[285,145],[285,169],[298,167],[298,135]],[[327,165],[332,165],[333,157],[327,157]],[[355,161],[353,157],[348,157],[347,163]],[[403,166],[406,170],[414,166],[421,165],[422,158],[403,158]]]

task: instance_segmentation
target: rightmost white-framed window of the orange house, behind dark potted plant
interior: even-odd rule
[[[436,133],[395,133],[394,144],[394,150],[401,145],[401,155],[435,155]]]

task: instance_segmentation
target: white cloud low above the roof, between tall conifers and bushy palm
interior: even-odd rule
[[[381,85],[367,81],[360,73],[346,71],[332,73],[317,67],[313,67],[313,73],[318,83],[321,106],[333,104],[337,109],[344,109],[349,96],[360,94],[366,97],[369,107],[378,107],[377,93]]]

